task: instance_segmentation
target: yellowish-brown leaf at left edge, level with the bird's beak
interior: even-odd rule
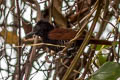
[[[6,43],[18,45],[18,36],[15,31],[7,31],[5,35],[5,29],[0,32],[0,35],[4,38],[6,36]]]

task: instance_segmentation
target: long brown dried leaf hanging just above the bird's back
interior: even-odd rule
[[[58,27],[67,28],[67,19],[61,13],[62,0],[53,0],[52,16]]]

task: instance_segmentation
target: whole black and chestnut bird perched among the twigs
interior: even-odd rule
[[[55,28],[49,22],[40,20],[35,25],[33,31],[28,33],[26,35],[26,37],[32,36],[33,34],[40,36],[44,43],[61,45],[61,44],[64,44],[64,42],[74,38],[75,35],[77,34],[77,31],[74,31],[72,29]],[[83,35],[77,39],[77,46],[80,46],[84,37],[85,37],[85,33],[83,33]],[[94,37],[91,38],[89,43],[106,44],[106,45],[112,44],[112,42],[110,42],[110,41],[97,40],[97,39],[94,39]],[[50,48],[56,52],[58,52],[59,50],[62,49],[62,48],[55,48],[53,46],[49,46],[48,48]]]

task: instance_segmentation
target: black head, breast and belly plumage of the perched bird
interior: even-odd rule
[[[35,27],[33,28],[33,31],[28,33],[26,35],[26,38],[31,37],[32,35],[38,35],[42,38],[42,41],[44,43],[50,43],[50,44],[56,44],[56,45],[61,45],[64,44],[65,41],[62,40],[51,40],[48,37],[48,34],[50,31],[52,31],[55,27],[50,24],[47,21],[44,20],[40,20],[37,22],[37,24],[35,25]],[[54,47],[54,46],[47,46],[50,50],[54,50],[56,52],[62,50],[63,48],[58,48],[58,47]]]

